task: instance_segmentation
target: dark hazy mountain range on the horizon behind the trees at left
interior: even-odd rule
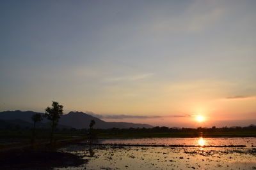
[[[22,120],[28,123],[32,123],[31,117],[34,115],[36,112],[34,111],[3,111],[0,112],[0,119],[1,120]],[[44,114],[44,113],[41,113]],[[148,124],[133,124],[133,123],[126,123],[126,122],[105,122],[103,120],[100,120],[99,118],[93,117],[91,115],[88,115],[83,112],[74,112],[70,111],[70,113],[61,115],[59,124],[60,126],[65,126],[67,127],[74,127],[76,129],[84,129],[88,128],[91,120],[95,120],[95,126],[94,128],[96,129],[109,129],[109,128],[151,128],[153,127],[152,125]],[[47,120],[44,119],[43,123],[41,124],[47,124]],[[49,124],[49,122],[48,122]],[[44,127],[43,125],[41,125]],[[59,126],[59,128],[60,128]],[[40,125],[38,124],[38,127]],[[47,126],[46,126],[47,127]]]

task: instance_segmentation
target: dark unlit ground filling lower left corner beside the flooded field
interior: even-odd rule
[[[1,146],[0,169],[52,169],[86,165],[87,160],[73,153],[57,152],[58,148],[77,143],[84,138],[62,139],[49,142],[20,143]]]

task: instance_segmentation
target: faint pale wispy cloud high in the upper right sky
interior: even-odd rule
[[[152,22],[150,28],[164,36],[166,36],[166,32],[200,32],[218,24],[228,13],[224,8],[213,5],[208,5],[206,8],[207,10],[205,10],[205,5],[202,5],[202,2],[195,3],[180,17],[157,18]]]

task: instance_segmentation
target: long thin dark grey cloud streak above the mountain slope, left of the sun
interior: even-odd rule
[[[140,115],[99,115],[96,113],[93,113],[92,111],[86,111],[88,115],[91,115],[93,117],[97,118],[107,118],[107,119],[124,119],[124,118],[136,118],[136,119],[143,119],[143,118],[166,118],[166,117],[191,117],[191,115],[170,115],[170,116],[140,116]]]

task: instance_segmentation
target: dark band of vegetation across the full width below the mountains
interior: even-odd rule
[[[38,142],[46,142],[49,138],[51,129],[37,128],[38,135],[36,138]],[[54,131],[54,139],[70,139],[81,138],[90,132],[88,129],[58,129]],[[220,127],[220,128],[168,128],[168,127],[154,127],[150,129],[93,129],[93,133],[97,134],[97,138],[197,138],[203,136],[204,138],[220,138],[220,137],[256,137],[256,127]],[[12,143],[26,143],[31,138],[31,131],[27,129],[1,129],[0,130],[0,146]],[[90,138],[90,136],[88,136]]]

